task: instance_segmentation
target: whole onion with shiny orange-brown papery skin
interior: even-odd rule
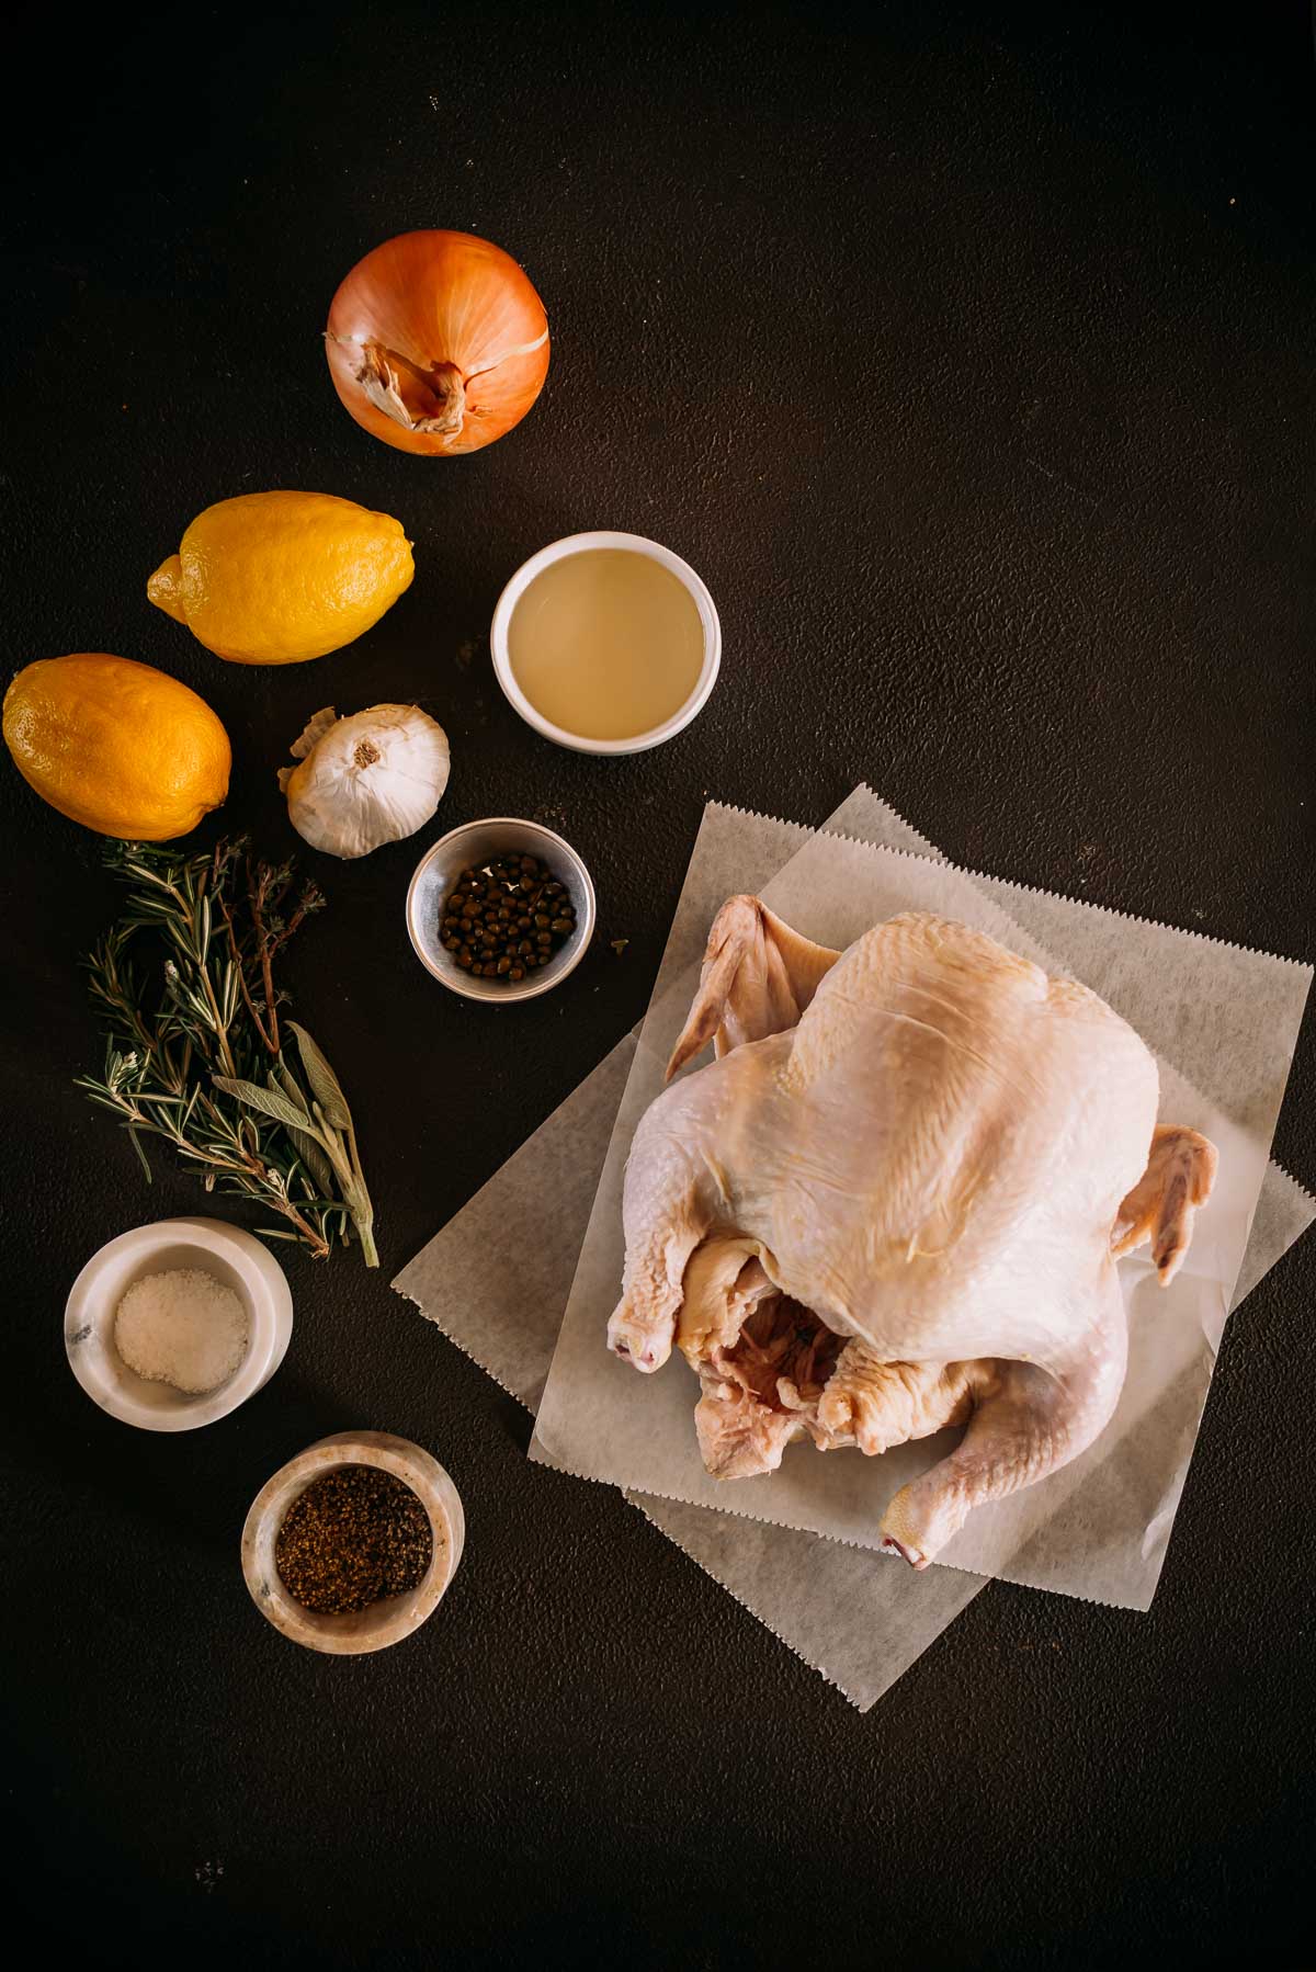
[[[511,254],[474,233],[399,233],[329,308],[329,375],[357,424],[399,452],[479,452],[548,375],[548,317]]]

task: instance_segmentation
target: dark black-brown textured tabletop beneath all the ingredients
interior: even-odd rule
[[[6,665],[158,663],[284,850],[310,712],[424,700],[440,816],[324,864],[290,980],[351,1091],[383,1268],[290,1260],[286,1367],[182,1438],[77,1390],[83,1260],[197,1209],[71,1077],[97,842],[4,765],[4,1692],[18,1907],[91,1962],[1300,1962],[1312,1812],[1316,1258],[1229,1327],[1150,1615],[987,1589],[868,1716],[387,1290],[639,1016],[706,793],[811,818],[866,777],[955,858],[1312,956],[1312,162],[1302,8],[331,6],[28,30],[6,231]],[[1239,10],[1243,12],[1243,10]],[[1071,18],[1075,16],[1075,18]],[[14,43],[10,41],[14,55]],[[552,321],[531,418],[466,461],[359,432],[318,333],[410,225],[485,233]],[[314,667],[150,609],[209,501],[397,513],[410,594]],[[582,527],[708,580],[726,661],[677,743],[554,751],[491,684],[507,574]],[[402,931],[422,842],[527,812],[600,941],[513,1016]],[[629,939],[616,958],[614,937]],[[1312,1051],[1279,1156],[1316,1173]],[[547,1173],[550,1181],[550,1175]],[[284,1248],[286,1250],[286,1248]],[[237,1538],[292,1451],[432,1445],[468,1511],[440,1615],[298,1653]]]

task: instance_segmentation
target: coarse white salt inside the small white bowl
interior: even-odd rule
[[[247,1307],[199,1266],[134,1280],[114,1311],[114,1349],[138,1376],[185,1396],[215,1390],[247,1355]]]

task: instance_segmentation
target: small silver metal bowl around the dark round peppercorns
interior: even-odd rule
[[[566,885],[576,911],[576,929],[566,945],[558,947],[547,966],[539,966],[513,986],[472,978],[438,941],[444,901],[462,872],[470,870],[472,864],[509,852],[537,856],[552,870],[558,883]],[[539,822],[521,822],[509,814],[493,816],[487,822],[464,822],[462,828],[442,836],[416,864],[406,891],[406,931],[420,964],[450,992],[458,992],[466,1000],[485,1000],[491,1006],[537,1000],[541,992],[552,992],[554,986],[560,986],[584,958],[594,937],[594,883],[570,842],[562,842],[562,836],[554,836]]]

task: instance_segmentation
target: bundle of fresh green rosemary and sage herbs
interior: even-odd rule
[[[148,1181],[142,1138],[162,1136],[203,1167],[207,1191],[272,1209],[282,1225],[262,1229],[270,1238],[326,1258],[355,1227],[365,1264],[379,1266],[347,1098],[304,1027],[288,1021],[310,1094],[280,1045],[288,996],[274,958],[324,909],[320,889],[294,889],[292,864],[253,862],[245,836],[191,856],[114,844],[107,862],[132,887],[89,960],[105,1069],[77,1087],[118,1116]],[[142,933],[162,960],[154,992],[130,958]]]

